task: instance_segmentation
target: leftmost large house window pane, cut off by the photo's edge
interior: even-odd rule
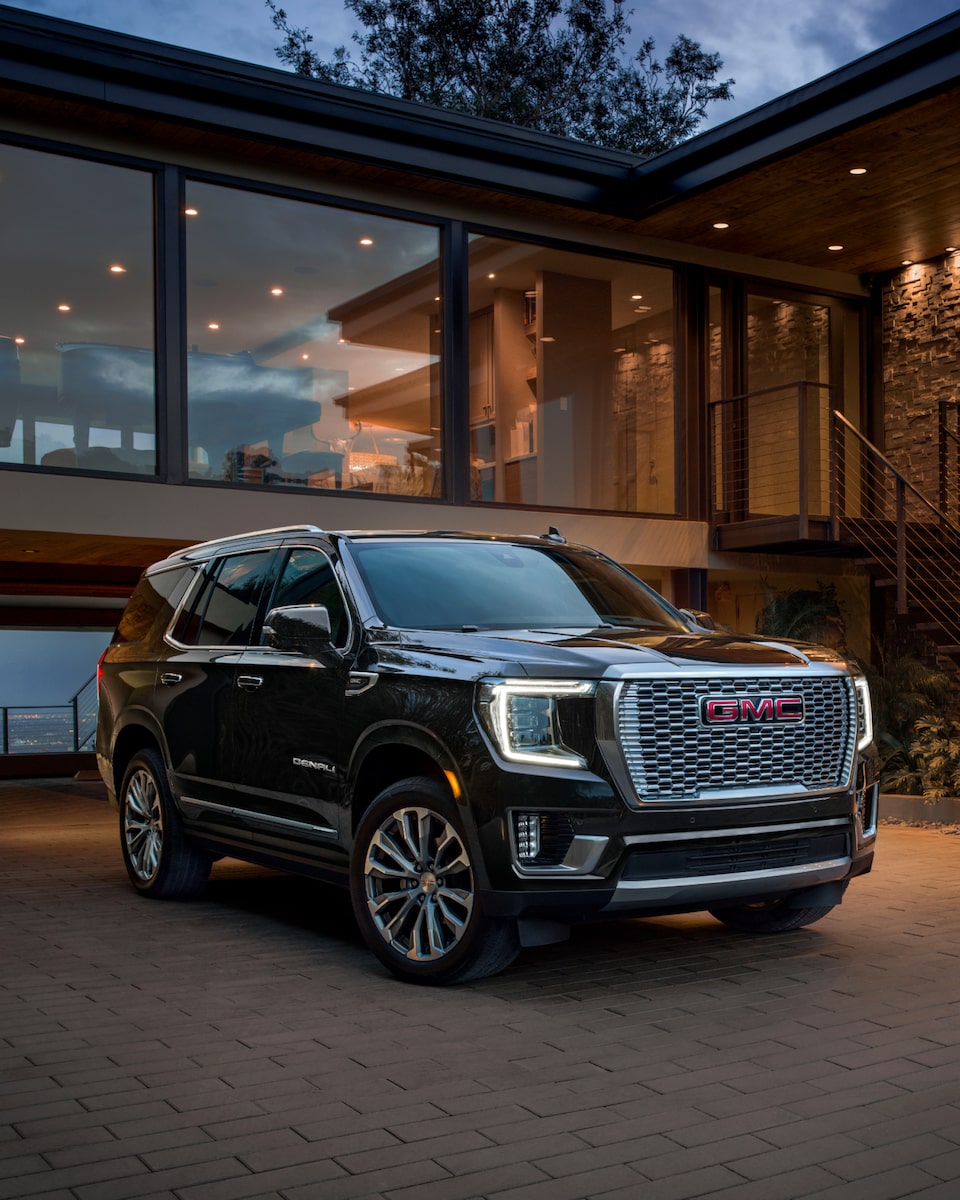
[[[154,474],[146,172],[0,145],[0,463]]]

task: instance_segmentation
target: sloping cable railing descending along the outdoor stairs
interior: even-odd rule
[[[896,612],[919,608],[960,647],[960,524],[910,484],[842,413],[833,413],[832,520],[896,588]]]

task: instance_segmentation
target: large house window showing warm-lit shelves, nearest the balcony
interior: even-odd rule
[[[674,512],[673,274],[475,236],[474,500]]]

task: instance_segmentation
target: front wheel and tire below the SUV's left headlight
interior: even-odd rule
[[[482,979],[520,953],[516,922],[480,911],[463,822],[437,780],[394,784],[364,814],[350,896],[370,949],[409,983]]]

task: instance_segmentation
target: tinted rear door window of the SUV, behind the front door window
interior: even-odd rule
[[[247,646],[272,552],[230,554],[215,564],[174,630],[185,646]]]

